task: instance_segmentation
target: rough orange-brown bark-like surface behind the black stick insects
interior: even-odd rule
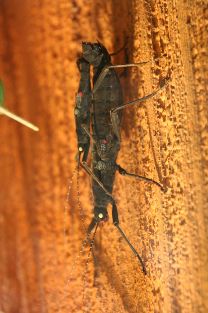
[[[109,221],[99,226],[85,281],[85,312],[208,312],[207,1],[1,0],[0,76],[5,107],[39,132],[0,116],[0,311],[60,312],[64,290],[86,239],[77,200],[75,92],[82,41],[98,39],[114,64],[144,62],[121,77],[124,101],[156,97],[124,110],[113,194],[120,227],[147,275]],[[127,56],[127,58],[126,58]],[[119,71],[118,71],[119,72]],[[122,70],[119,72],[121,73]],[[90,156],[88,158],[90,164]],[[92,220],[89,175],[81,168],[80,203]],[[86,244],[62,303],[83,312]]]

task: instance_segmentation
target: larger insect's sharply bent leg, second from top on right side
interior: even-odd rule
[[[133,105],[135,103],[138,103],[138,102],[141,102],[143,100],[147,100],[149,98],[152,98],[154,97],[155,95],[157,95],[159,92],[161,92],[164,88],[166,88],[167,86],[167,82],[168,82],[169,78],[166,78],[165,80],[165,84],[159,88],[158,90],[156,90],[155,92],[153,92],[152,94],[150,95],[147,95],[143,98],[140,98],[140,99],[136,99],[134,101],[131,101],[131,102],[127,102],[127,103],[124,103],[120,106],[118,106],[117,108],[115,109],[112,109],[111,110],[111,122],[112,122],[112,125],[113,125],[113,129],[115,131],[115,134],[116,134],[116,137],[118,138],[119,141],[121,141],[121,131],[120,131],[120,126],[119,126],[119,120],[118,120],[118,115],[117,115],[117,111],[118,110],[121,110],[123,108],[126,108],[127,106],[130,106],[130,105]]]

